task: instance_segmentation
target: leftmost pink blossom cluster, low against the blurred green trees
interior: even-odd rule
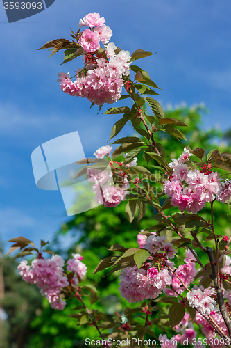
[[[78,283],[77,274],[80,278],[86,274],[87,267],[79,254],[72,254],[73,259],[67,261],[67,271],[74,271],[74,280]],[[62,310],[66,302],[60,299],[63,287],[69,285],[67,275],[64,273],[65,261],[59,255],[52,255],[51,259],[35,258],[31,266],[27,260],[20,262],[17,269],[22,279],[27,283],[36,284],[40,292],[49,301],[52,308]]]

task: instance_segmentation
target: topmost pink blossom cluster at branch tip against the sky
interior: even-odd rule
[[[85,29],[78,39],[78,44],[83,49],[85,66],[76,71],[74,82],[69,78],[69,74],[58,74],[60,88],[64,93],[87,98],[99,106],[104,103],[113,104],[119,100],[123,77],[129,75],[130,69],[130,53],[117,49],[113,42],[108,43],[112,30],[104,23],[105,19],[100,17],[99,13],[89,13],[80,19],[80,28],[90,28]],[[105,45],[104,54],[99,53],[100,42]]]

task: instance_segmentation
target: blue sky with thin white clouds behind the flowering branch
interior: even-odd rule
[[[0,233],[3,240],[23,235],[49,239],[67,219],[58,191],[37,189],[31,152],[45,141],[78,130],[85,155],[108,141],[118,116],[97,115],[89,102],[59,89],[57,74],[74,72],[79,58],[62,65],[63,53],[35,51],[89,12],[99,12],[113,31],[111,41],[131,53],[157,52],[137,61],[164,89],[162,106],[204,102],[204,126],[231,127],[230,0],[55,0],[28,19],[9,24],[0,3]],[[72,74],[73,75],[73,74]],[[123,101],[125,104],[125,101]],[[130,129],[127,129],[129,132]]]

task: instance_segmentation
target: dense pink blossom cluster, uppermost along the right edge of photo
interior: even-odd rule
[[[176,205],[181,211],[196,213],[215,197],[221,202],[228,200],[231,196],[231,184],[227,180],[221,182],[218,172],[206,168],[202,171],[189,169],[185,161],[191,155],[185,148],[179,159],[173,159],[169,164],[173,174],[164,183],[164,193],[171,197],[171,205]]]

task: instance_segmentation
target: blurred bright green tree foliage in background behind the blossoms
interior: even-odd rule
[[[228,146],[223,142],[223,134],[221,131],[217,129],[205,131],[202,129],[201,120],[204,112],[205,109],[200,106],[195,106],[191,109],[184,107],[165,112],[166,117],[179,118],[189,125],[189,127],[184,129],[188,142],[184,140],[178,141],[164,132],[155,133],[155,140],[157,142],[160,141],[164,146],[166,161],[171,161],[171,159],[179,157],[183,148],[187,145],[192,149],[197,147],[205,148],[207,152],[213,148],[218,148],[221,152],[227,152],[229,150]],[[227,136],[225,139],[228,141],[230,140]],[[138,158],[138,162],[139,165],[145,165],[145,161],[142,157]],[[154,160],[152,160],[151,163],[155,164]],[[148,167],[148,169],[152,171],[151,167]],[[112,244],[121,244],[126,248],[137,247],[137,232],[151,227],[156,223],[153,219],[153,215],[157,210],[154,207],[148,206],[146,216],[139,224],[135,219],[132,226],[130,226],[126,218],[125,207],[126,202],[114,208],[105,209],[105,207],[99,206],[95,209],[73,216],[62,225],[51,243],[53,251],[60,255],[64,255],[64,252],[68,257],[71,256],[71,253],[80,253],[83,255],[84,262],[87,265],[87,279],[83,280],[83,282],[92,283],[97,290],[99,290],[100,294],[100,301],[94,303],[93,306],[108,314],[114,311],[119,312],[122,306],[125,308],[128,305],[130,307],[135,307],[136,305],[131,305],[120,296],[118,291],[118,272],[114,272],[108,276],[106,276],[109,273],[107,270],[97,274],[92,274],[92,272],[103,258],[112,255],[112,252],[108,251]],[[222,230],[223,233],[230,235],[230,228],[228,227],[230,226],[229,212],[229,205],[225,205],[224,209],[224,205],[216,203],[214,207],[216,233],[219,234],[219,230]],[[166,211],[166,214],[168,214],[168,211]],[[205,209],[201,215],[205,219],[209,219],[209,209]],[[71,248],[67,251],[63,251],[62,243],[60,242],[60,237],[63,238],[63,236],[67,238],[71,237],[74,241]],[[200,254],[200,251],[198,251],[198,254]],[[206,255],[202,255],[202,258],[203,257],[206,257]],[[7,310],[8,306],[10,306],[8,292],[14,291],[10,290],[9,284],[12,283],[11,287],[14,287],[14,289],[17,288],[17,290],[15,290],[15,298],[14,301],[12,301],[12,303],[14,303],[12,305],[12,313],[10,315],[8,314],[8,318],[4,322],[5,326],[10,326],[11,328],[8,330],[9,334],[6,348],[85,347],[85,338],[96,339],[97,335],[92,326],[77,327],[75,319],[67,317],[71,313],[71,308],[75,307],[74,300],[71,301],[71,305],[67,301],[67,306],[61,313],[58,310],[53,310],[46,300],[42,301],[42,311],[36,310],[36,306],[40,308],[40,301],[42,298],[40,298],[40,295],[37,296],[37,290],[35,290],[34,287],[31,287],[31,285],[25,283],[23,280],[18,280],[16,275],[14,278],[15,263],[9,264],[9,262],[6,262],[6,267],[11,267],[12,280],[5,279],[6,299],[4,301],[4,309],[7,314],[10,313],[10,310]],[[23,297],[23,287],[27,289],[25,297]],[[18,292],[19,290],[20,292]],[[35,296],[34,299],[33,296]],[[26,310],[27,314],[22,311],[22,308],[24,308],[22,303],[24,303],[24,301],[28,301],[28,303],[30,301],[30,305],[27,304],[28,307],[26,308],[31,308],[31,305],[33,307],[30,310]],[[33,305],[31,301],[34,301],[35,304]],[[76,306],[77,305],[78,300],[76,300]],[[22,315],[21,319],[20,315]],[[21,326],[24,329],[21,329]],[[21,330],[24,331],[25,328],[26,335],[24,335],[24,345],[17,346],[12,343],[12,332],[15,332],[16,340],[19,332],[21,332]],[[156,329],[155,333],[157,336],[159,335],[158,329]],[[160,333],[162,332],[160,331]]]

